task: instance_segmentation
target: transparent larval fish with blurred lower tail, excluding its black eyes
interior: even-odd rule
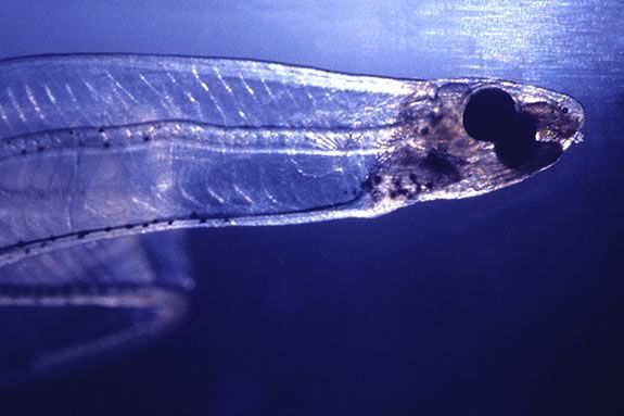
[[[535,126],[539,147],[522,163],[466,131],[471,97],[493,89]],[[74,328],[20,365],[0,361],[0,375],[175,320],[192,287],[184,253],[150,231],[373,217],[489,192],[551,165],[583,121],[568,96],[494,79],[180,56],[0,62],[0,310],[12,327],[47,310],[58,316],[29,317],[34,331]],[[82,331],[81,319],[106,325]],[[23,350],[8,333],[0,353]]]

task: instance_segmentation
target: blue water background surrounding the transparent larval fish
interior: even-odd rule
[[[188,232],[198,288],[158,343],[0,413],[624,414],[624,3],[1,0],[0,58],[142,52],[570,93],[549,171],[373,220]]]

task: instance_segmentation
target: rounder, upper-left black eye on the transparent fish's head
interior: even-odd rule
[[[463,128],[481,141],[504,140],[515,118],[511,96],[498,88],[486,88],[472,94],[463,111]]]

